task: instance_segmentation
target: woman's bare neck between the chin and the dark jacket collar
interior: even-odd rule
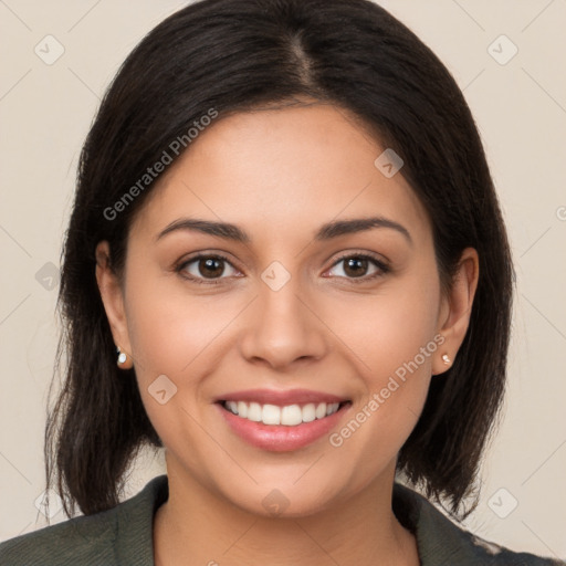
[[[391,510],[394,471],[332,509],[286,518],[249,513],[169,468],[169,499],[154,520],[156,566],[419,565],[415,537]]]

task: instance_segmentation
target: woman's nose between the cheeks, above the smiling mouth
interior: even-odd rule
[[[325,355],[326,326],[307,294],[301,292],[297,280],[291,277],[279,291],[260,284],[241,340],[241,352],[248,361],[285,369]]]

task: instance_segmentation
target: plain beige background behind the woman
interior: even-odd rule
[[[119,63],[184,3],[0,1],[0,541],[46,524],[35,502],[44,490],[43,427],[57,332],[53,275],[82,142]],[[381,4],[433,49],[464,90],[516,262],[506,409],[483,468],[481,503],[467,525],[513,549],[566,557],[566,1]],[[64,46],[51,65],[34,52],[39,44],[48,56],[51,41],[49,56],[56,54],[48,34]],[[501,34],[518,49],[506,64],[513,45]],[[161,460],[140,460],[127,495],[164,471]],[[516,509],[502,518],[514,500]],[[52,523],[64,518],[60,512]]]

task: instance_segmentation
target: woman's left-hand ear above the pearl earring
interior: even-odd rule
[[[117,275],[112,270],[111,251],[107,241],[96,245],[96,282],[114,338],[114,344],[132,359],[132,347],[124,308],[124,292]]]

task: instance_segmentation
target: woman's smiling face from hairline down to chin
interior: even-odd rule
[[[219,119],[137,213],[123,287],[99,269],[169,473],[290,516],[392,478],[473,290],[442,296],[385,149],[329,105]]]

